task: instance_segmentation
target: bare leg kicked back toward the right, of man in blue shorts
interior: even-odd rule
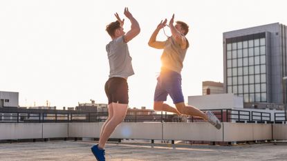
[[[194,106],[185,106],[184,102],[180,102],[175,105],[176,105],[176,109],[184,115],[197,116],[197,117],[203,118],[204,120],[208,120],[207,115],[205,115],[205,113],[203,113],[202,111],[200,111],[198,108]]]

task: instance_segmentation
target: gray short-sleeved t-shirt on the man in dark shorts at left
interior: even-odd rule
[[[133,66],[131,66],[131,56],[129,47],[124,42],[124,36],[113,39],[106,46],[109,58],[110,75],[109,77],[127,78],[133,75]]]

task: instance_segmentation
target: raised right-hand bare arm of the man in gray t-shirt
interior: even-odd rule
[[[131,12],[129,12],[128,8],[124,8],[124,15],[131,21],[131,30],[127,32],[126,35],[124,35],[124,41],[128,42],[133,39],[133,37],[136,37],[140,33],[140,25],[138,24],[138,21],[131,15]],[[122,23],[124,22],[124,19]]]

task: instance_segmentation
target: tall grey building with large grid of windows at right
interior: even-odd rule
[[[284,108],[286,32],[280,23],[224,32],[224,91],[242,96],[250,108]]]

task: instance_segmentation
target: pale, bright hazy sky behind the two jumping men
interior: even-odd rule
[[[124,30],[135,17],[140,34],[129,42],[135,75],[129,77],[129,106],[152,108],[163,50],[147,45],[158,23],[175,15],[189,25],[182,70],[185,102],[202,95],[202,82],[223,82],[223,32],[287,25],[284,0],[1,0],[0,91],[19,92],[19,106],[73,107],[107,104],[104,84],[109,76],[105,31],[118,12]],[[166,39],[163,31],[158,40]],[[172,103],[168,98],[168,103]]]

